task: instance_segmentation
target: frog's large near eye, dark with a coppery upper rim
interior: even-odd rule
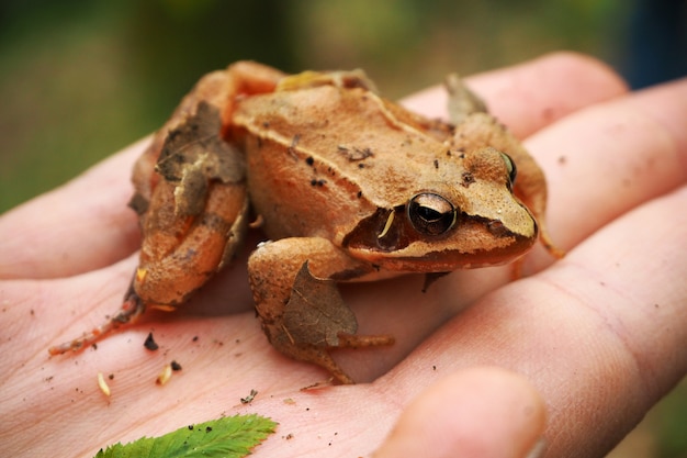
[[[439,194],[423,192],[408,202],[408,219],[420,234],[440,235],[453,227],[458,212]]]

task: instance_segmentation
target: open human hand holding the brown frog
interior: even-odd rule
[[[566,258],[537,249],[530,276],[513,283],[491,268],[454,272],[426,294],[415,277],[345,288],[360,333],[397,340],[337,351],[369,381],[353,387],[300,390],[326,375],[269,346],[241,261],[178,312],[48,358],[126,290],[138,143],[0,217],[5,453],[87,457],[249,412],[280,423],[258,457],[369,455],[396,421],[375,458],[525,456],[540,436],[549,456],[608,451],[687,369],[687,81],[627,94],[598,63],[554,55],[468,82],[545,170],[549,227]],[[432,89],[408,104],[440,115],[441,98]],[[143,349],[151,329],[155,354]],[[183,370],[156,386],[171,359]],[[111,398],[99,371],[114,375]]]

